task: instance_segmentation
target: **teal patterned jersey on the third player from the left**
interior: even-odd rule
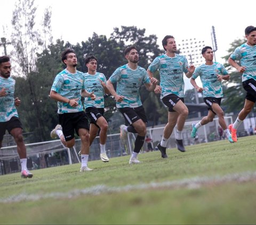
[[[88,92],[94,91],[96,96],[95,100],[92,100],[90,97],[84,98],[84,107],[103,108],[104,107],[104,95],[105,91],[101,85],[101,81],[107,83],[106,77],[103,73],[96,72],[94,75],[89,73],[84,73],[84,87]],[[100,80],[99,80],[100,79]]]

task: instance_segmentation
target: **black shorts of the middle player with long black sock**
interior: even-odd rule
[[[144,107],[142,105],[136,108],[119,108],[119,111],[124,116],[126,126],[131,125],[132,123],[140,119],[145,123],[148,122]]]

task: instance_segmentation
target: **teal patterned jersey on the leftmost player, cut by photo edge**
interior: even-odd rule
[[[17,109],[14,104],[14,86],[15,80],[11,77],[0,77],[0,90],[5,88],[6,96],[0,97],[0,122],[9,121],[12,116],[18,116]]]

